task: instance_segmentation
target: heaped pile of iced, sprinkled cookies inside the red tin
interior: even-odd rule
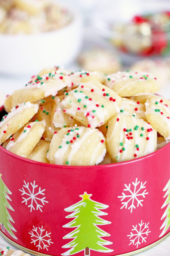
[[[43,69],[6,98],[0,144],[57,165],[145,156],[170,140],[170,101],[158,89],[156,77],[143,72]]]

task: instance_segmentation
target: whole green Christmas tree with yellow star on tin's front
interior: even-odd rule
[[[84,250],[84,255],[90,255],[90,250],[102,253],[113,252],[105,245],[112,244],[101,237],[110,236],[108,233],[100,229],[99,225],[110,224],[111,222],[101,219],[99,216],[107,215],[100,209],[106,209],[108,205],[95,202],[90,199],[92,194],[84,192],[82,200],[74,205],[65,208],[66,212],[72,212],[66,218],[74,218],[72,221],[63,226],[63,228],[75,228],[63,238],[74,238],[72,241],[62,246],[62,248],[70,248],[61,255],[72,255]]]

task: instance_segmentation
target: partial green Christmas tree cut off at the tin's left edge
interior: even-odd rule
[[[14,209],[11,207],[11,205],[7,201],[7,200],[12,201],[8,196],[8,194],[11,195],[12,193],[7,188],[7,186],[3,183],[1,176],[2,174],[0,173],[0,223],[2,224],[2,231],[4,231],[4,228],[6,228],[7,232],[13,238],[17,239],[14,233],[12,232],[12,230],[15,232],[17,231],[10,223],[10,222],[14,223],[14,221],[7,210],[7,209],[10,209],[11,211],[14,211]]]

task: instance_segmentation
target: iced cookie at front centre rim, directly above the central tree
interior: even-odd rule
[[[51,164],[95,165],[103,161],[106,145],[98,129],[61,128],[52,138],[47,158]]]

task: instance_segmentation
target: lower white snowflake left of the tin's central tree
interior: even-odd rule
[[[31,237],[34,237],[34,239],[32,238],[32,242],[31,243],[34,243],[34,245],[36,245],[36,242],[37,242],[37,245],[36,247],[38,247],[38,251],[40,249],[42,249],[42,246],[43,246],[43,249],[46,249],[48,251],[48,247],[51,243],[51,238],[50,238],[50,234],[51,233],[47,233],[47,231],[45,231],[45,229],[43,229],[43,226],[41,226],[41,228],[35,228],[33,226],[32,228],[32,231],[31,233],[28,232]],[[49,238],[49,239],[48,239]]]

